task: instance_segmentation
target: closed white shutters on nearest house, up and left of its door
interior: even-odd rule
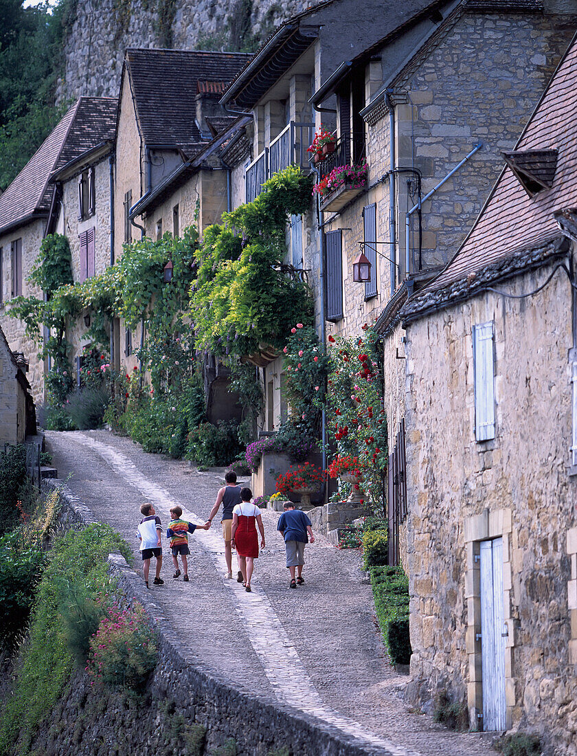
[[[473,327],[475,437],[477,441],[495,438],[493,333],[493,321]]]

